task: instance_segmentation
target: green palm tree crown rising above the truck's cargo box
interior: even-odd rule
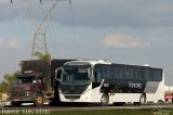
[[[51,60],[51,54],[49,52],[42,53],[42,52],[36,52],[35,56],[37,56],[39,60],[42,61],[50,61]]]

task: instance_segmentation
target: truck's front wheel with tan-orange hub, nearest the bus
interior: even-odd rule
[[[35,100],[35,106],[42,106],[44,103],[44,97],[41,93],[38,93],[36,95],[36,100]]]

